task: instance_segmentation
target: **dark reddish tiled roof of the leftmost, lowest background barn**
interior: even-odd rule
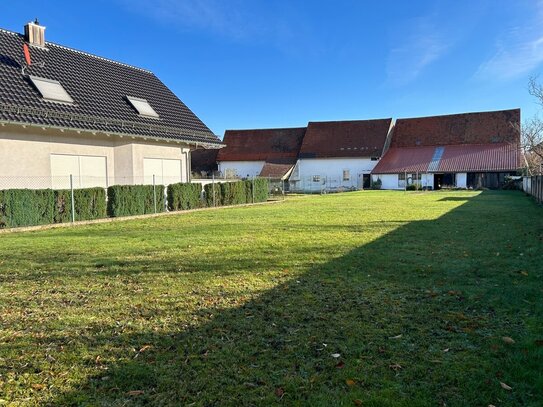
[[[217,161],[296,162],[306,128],[227,130]]]

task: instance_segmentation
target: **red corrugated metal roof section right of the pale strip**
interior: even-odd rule
[[[447,146],[439,172],[516,171],[520,167],[518,144]]]

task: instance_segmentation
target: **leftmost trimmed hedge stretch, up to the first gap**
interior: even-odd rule
[[[106,217],[106,194],[103,188],[74,190],[74,199],[76,220]],[[64,223],[71,220],[72,198],[69,190],[0,191],[0,229]]]

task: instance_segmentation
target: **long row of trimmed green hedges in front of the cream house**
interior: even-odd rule
[[[164,212],[163,185],[114,185],[107,189],[74,190],[75,220],[145,215]],[[168,186],[168,209],[179,211],[201,207],[265,202],[268,180],[255,179],[207,184],[179,183]],[[215,197],[213,197],[213,194]],[[71,222],[70,190],[8,189],[0,190],[0,229]]]

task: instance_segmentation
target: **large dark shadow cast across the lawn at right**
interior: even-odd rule
[[[533,334],[538,290],[511,270],[537,274],[542,257],[519,266],[495,256],[525,231],[492,221],[506,209],[488,209],[493,196],[401,226],[242,306],[203,301],[194,323],[175,330],[157,322],[136,334],[111,326],[50,338],[110,349],[80,361],[103,373],[54,404],[535,405],[541,352],[499,338]]]

